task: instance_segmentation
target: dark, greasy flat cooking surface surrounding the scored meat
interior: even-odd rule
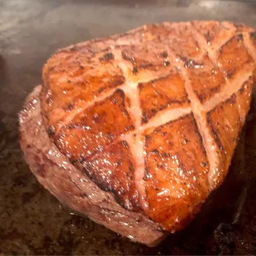
[[[256,28],[254,1],[0,0],[0,254],[256,254],[256,87],[225,183],[187,230],[149,249],[76,216],[22,157],[17,111],[58,48],[157,21],[216,19]]]

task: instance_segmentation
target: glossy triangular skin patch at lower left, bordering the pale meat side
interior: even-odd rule
[[[99,187],[113,192],[121,206],[130,211],[140,211],[139,193],[135,187],[135,163],[126,141],[111,145],[110,149],[83,162],[82,166]]]

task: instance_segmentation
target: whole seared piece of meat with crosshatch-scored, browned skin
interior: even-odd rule
[[[153,246],[228,172],[256,81],[256,32],[224,21],[142,26],[59,50],[20,112],[39,182]]]

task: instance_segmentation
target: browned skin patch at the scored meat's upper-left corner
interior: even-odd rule
[[[107,89],[116,88],[125,82],[121,69],[113,62],[111,52],[100,54],[59,52],[55,64],[50,59],[43,70],[45,87],[43,95],[46,100],[42,108],[46,124],[59,126],[65,122],[70,111],[92,102]],[[56,86],[57,85],[57,86]]]

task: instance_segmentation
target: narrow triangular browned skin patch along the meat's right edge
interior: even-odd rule
[[[239,139],[239,133],[244,126],[246,115],[249,111],[251,93],[253,90],[254,79],[250,77],[238,92],[225,102],[221,102],[217,107],[207,113],[207,121],[211,127],[212,136],[220,148],[221,163],[224,173],[218,178],[219,183],[225,177],[232,154]]]

